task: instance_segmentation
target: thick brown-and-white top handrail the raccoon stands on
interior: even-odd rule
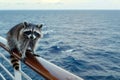
[[[0,46],[4,50],[6,50],[10,55],[13,55],[17,59],[21,60],[21,55],[18,52],[18,50],[15,49],[13,50],[13,52],[11,52],[6,44],[7,44],[7,40],[0,36]],[[33,54],[29,51],[26,52],[26,58],[23,61],[23,63],[28,65],[39,75],[42,75],[46,80],[84,80],[81,77],[78,77],[77,75],[74,75],[64,70],[63,68],[60,68],[59,66],[56,66],[55,64],[50,63],[41,57],[33,56]],[[15,72],[15,78],[21,76],[18,71],[15,70],[14,72]]]

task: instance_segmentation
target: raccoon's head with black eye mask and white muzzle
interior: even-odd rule
[[[23,30],[23,35],[25,38],[34,40],[34,39],[38,39],[41,37],[42,25],[25,23],[24,26],[25,26],[25,29]]]

